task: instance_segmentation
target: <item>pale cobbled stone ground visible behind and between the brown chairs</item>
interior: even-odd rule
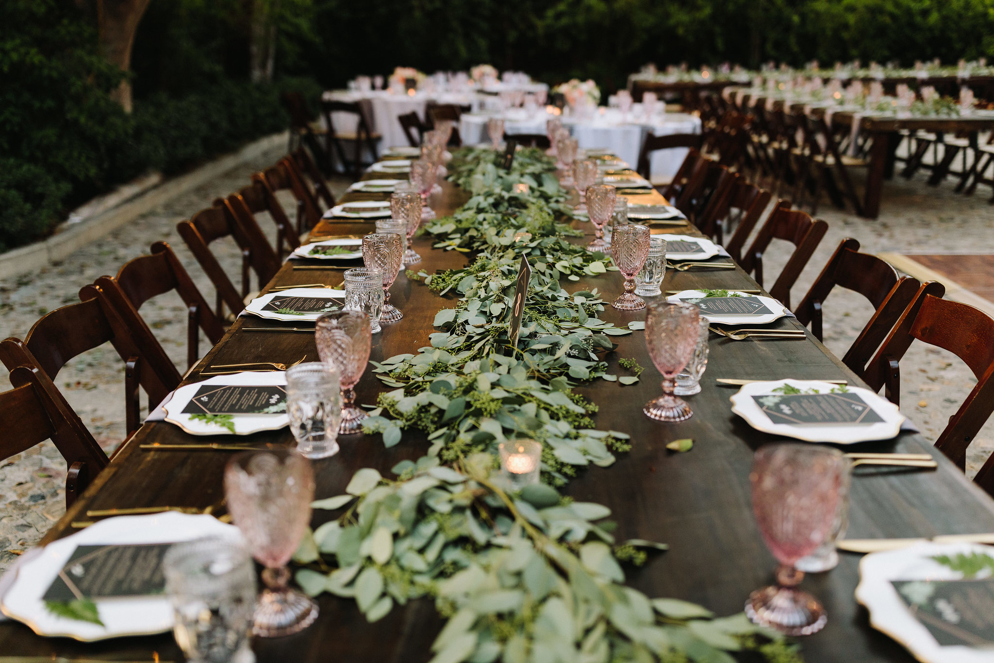
[[[210,185],[178,197],[159,209],[98,242],[78,250],[63,263],[42,267],[37,274],[0,279],[0,311],[3,337],[23,338],[31,325],[48,310],[78,301],[79,288],[102,274],[113,274],[127,259],[147,252],[156,241],[165,240],[213,302],[213,288],[193,256],[176,235],[177,222],[207,207],[216,197],[245,186],[252,172],[274,162],[278,151],[256,163],[237,168]],[[897,178],[885,187],[884,205],[877,221],[839,212],[824,203],[818,216],[829,231],[809,266],[794,287],[791,299],[800,301],[811,281],[843,238],[855,237],[869,252],[904,253],[994,252],[994,207],[985,194],[964,197],[952,192],[952,184],[938,188],[924,184],[924,175],[909,181]],[[336,181],[336,195],[348,181]],[[862,183],[857,182],[861,187]],[[293,209],[293,207],[287,207]],[[271,235],[273,227],[261,219]],[[782,246],[780,246],[782,245]],[[779,272],[789,255],[789,245],[774,243],[765,256],[766,273]],[[239,273],[240,258],[234,243],[222,256],[229,273]],[[186,316],[178,296],[163,295],[141,310],[145,320],[177,366],[186,361]],[[836,290],[825,302],[825,343],[842,356],[856,338],[872,307],[860,295]],[[201,352],[210,344],[201,339]],[[3,373],[3,372],[0,372]],[[110,452],[124,435],[123,366],[109,345],[84,353],[60,373],[57,384],[83,417],[100,445]],[[902,403],[905,412],[922,434],[934,440],[972,389],[976,380],[955,356],[937,348],[914,344],[902,361]],[[6,377],[0,389],[9,389]],[[968,471],[973,474],[994,449],[994,423],[988,423],[971,445]],[[46,442],[0,464],[0,571],[21,551],[30,548],[65,511],[66,463],[58,450]]]

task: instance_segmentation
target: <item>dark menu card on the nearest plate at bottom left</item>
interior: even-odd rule
[[[160,594],[166,586],[162,558],[171,547],[172,544],[80,546],[43,598],[72,601]]]

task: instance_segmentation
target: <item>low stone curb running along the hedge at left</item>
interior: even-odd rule
[[[151,211],[171,198],[190,191],[237,166],[258,158],[268,150],[285,145],[288,133],[282,131],[248,143],[238,152],[204,164],[196,170],[173,177],[159,186],[79,224],[27,247],[0,253],[0,278],[37,271],[43,264],[66,259],[77,249]]]

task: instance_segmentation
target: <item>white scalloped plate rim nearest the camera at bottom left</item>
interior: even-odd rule
[[[173,607],[165,595],[96,599],[103,626],[52,614],[43,596],[78,546],[180,543],[212,536],[237,540],[242,537],[237,527],[214,516],[170,511],[106,518],[49,544],[41,555],[21,565],[17,579],[0,601],[0,609],[39,635],[83,642],[169,631],[173,627]]]

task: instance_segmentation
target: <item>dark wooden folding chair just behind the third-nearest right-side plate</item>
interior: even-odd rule
[[[790,308],[790,288],[797,281],[811,254],[821,244],[828,231],[828,224],[799,210],[791,210],[790,203],[781,200],[759,229],[752,246],[743,256],[742,267],[751,272],[756,282],[762,285],[762,254],[772,240],[783,240],[794,245],[794,252],[783,265],[769,294],[787,308]]]

